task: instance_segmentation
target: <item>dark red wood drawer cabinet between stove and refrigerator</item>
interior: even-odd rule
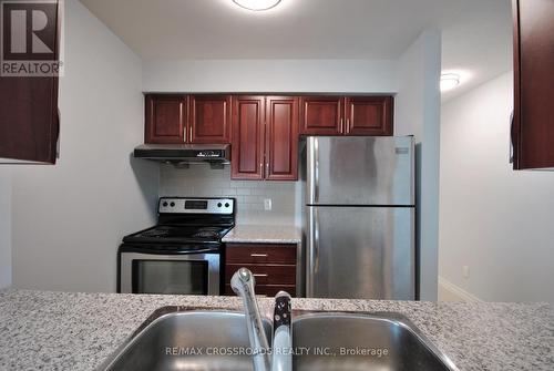
[[[256,295],[275,296],[284,290],[296,296],[297,246],[293,244],[227,244],[225,295],[235,295],[230,278],[242,267],[256,279]]]

